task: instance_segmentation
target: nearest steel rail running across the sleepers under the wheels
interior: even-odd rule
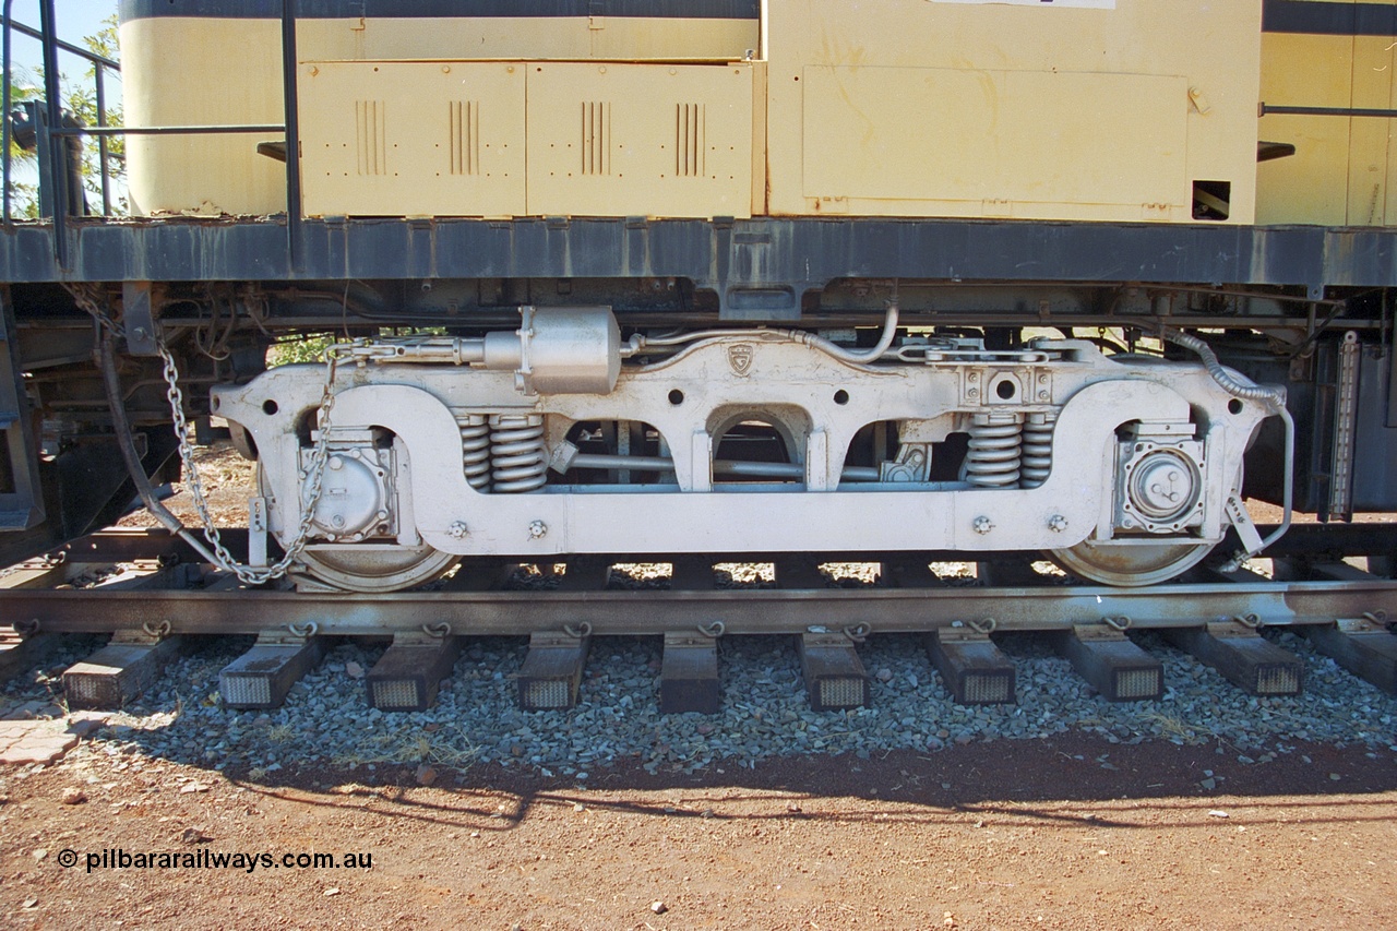
[[[1104,618],[1136,629],[1333,623],[1397,618],[1397,582],[1217,582],[1148,589],[1098,586],[694,591],[419,591],[381,596],[260,590],[7,590],[0,616],[46,632],[260,633],[314,623],[323,635],[388,635],[450,625],[453,635],[528,635],[590,625],[594,635],[708,628],[726,633],[922,632],[958,625],[1053,630]]]

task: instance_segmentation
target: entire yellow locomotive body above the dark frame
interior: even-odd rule
[[[275,20],[152,15],[122,42],[131,124],[282,119]],[[1257,119],[1393,108],[1390,36],[1263,32],[1261,0],[305,18],[298,50],[310,215],[1397,215],[1391,120]],[[1296,154],[1257,168],[1259,137]],[[133,210],[284,210],[271,138],[133,136]]]

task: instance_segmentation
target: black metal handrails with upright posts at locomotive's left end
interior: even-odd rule
[[[13,103],[10,66],[11,66],[11,31],[39,39],[43,43],[43,95],[47,115],[46,133],[52,138],[67,138],[94,136],[98,140],[98,159],[102,176],[102,215],[112,215],[110,178],[108,166],[110,152],[108,151],[108,137],[112,136],[201,136],[224,133],[285,133],[286,136],[286,249],[292,266],[296,264],[300,253],[300,133],[296,99],[296,3],[282,0],[282,85],[285,88],[284,124],[243,124],[243,126],[109,126],[106,122],[106,85],[105,73],[108,68],[120,71],[119,62],[96,55],[89,49],[64,42],[54,32],[54,0],[39,0],[39,29],[15,22],[10,15],[13,0],[3,0],[0,11],[0,31],[3,31],[3,105],[0,105],[0,122],[3,122],[4,152],[3,162],[3,211],[0,218],[6,226],[14,221],[11,212],[11,158],[10,158],[10,108]],[[63,126],[63,99],[59,85],[57,53],[67,52],[75,55],[94,66],[94,84],[96,89],[96,126],[66,127]],[[67,205],[68,205],[68,173],[66,168],[66,151],[63,147],[49,147],[49,180],[53,185],[53,250],[60,267],[67,267]],[[42,168],[42,166],[41,166]],[[41,171],[41,187],[43,185]]]

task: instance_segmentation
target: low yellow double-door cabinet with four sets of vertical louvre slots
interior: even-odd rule
[[[752,63],[302,66],[310,215],[749,217]]]

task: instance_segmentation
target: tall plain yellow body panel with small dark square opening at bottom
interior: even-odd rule
[[[1252,221],[1259,1],[768,8],[773,214]]]

